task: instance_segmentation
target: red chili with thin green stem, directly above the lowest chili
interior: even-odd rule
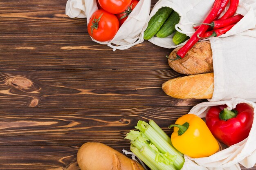
[[[231,18],[227,18],[225,20],[215,20],[213,22],[211,22],[210,24],[204,24],[204,23],[199,23],[199,24],[204,24],[204,25],[209,25],[211,26],[211,28],[213,29],[219,29],[219,28],[223,28],[225,26],[229,26],[231,24],[236,24],[238,23],[244,16],[243,15],[236,15],[234,17]]]

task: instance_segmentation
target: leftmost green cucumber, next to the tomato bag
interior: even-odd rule
[[[162,7],[158,9],[158,11],[150,18],[148,22],[148,27],[144,32],[144,39],[149,40],[152,38],[164,24],[164,22],[168,19],[171,15],[173,9],[169,7]]]

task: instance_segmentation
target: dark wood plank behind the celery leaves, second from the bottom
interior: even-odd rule
[[[0,109],[0,146],[82,145],[98,141],[128,147],[124,137],[138,120],[153,119],[170,135],[169,124],[190,106],[165,108]]]

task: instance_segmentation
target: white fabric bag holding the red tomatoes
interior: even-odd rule
[[[87,22],[97,10],[96,0],[68,0],[66,4],[66,15],[70,18],[87,18]],[[144,41],[144,31],[148,25],[149,12],[150,0],[140,0],[112,40],[109,42],[99,42],[93,38],[92,40],[99,44],[108,44],[113,51],[128,49],[139,44]]]

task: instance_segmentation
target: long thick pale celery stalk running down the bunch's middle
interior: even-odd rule
[[[165,154],[168,152],[171,155],[176,155],[173,165],[180,170],[184,164],[184,158],[170,145],[161,135],[159,135],[150,125],[146,126],[144,135],[159,149],[160,152]]]

